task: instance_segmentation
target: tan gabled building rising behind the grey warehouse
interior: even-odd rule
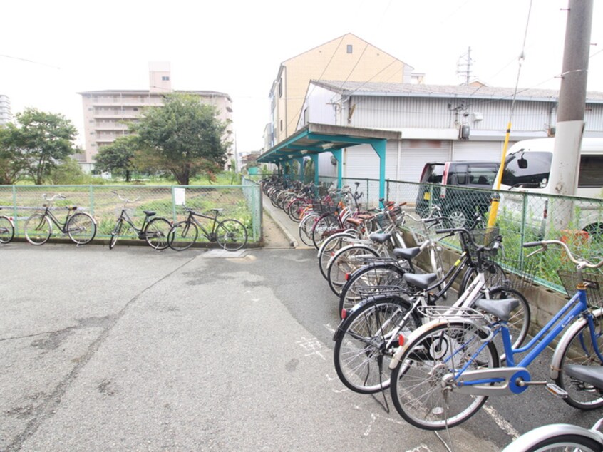
[[[295,132],[311,80],[420,83],[422,74],[354,34],[345,34],[281,63],[270,91],[271,122],[264,146]]]

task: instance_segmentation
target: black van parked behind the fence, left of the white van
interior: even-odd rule
[[[455,227],[464,227],[475,212],[490,207],[493,183],[500,163],[482,160],[429,162],[423,167],[416,212],[426,217],[438,205]]]

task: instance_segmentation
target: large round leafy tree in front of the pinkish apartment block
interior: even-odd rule
[[[224,167],[228,145],[226,124],[217,115],[196,96],[166,95],[163,106],[145,108],[131,126],[141,145],[137,161],[148,169],[169,170],[180,185],[199,174],[212,177]]]

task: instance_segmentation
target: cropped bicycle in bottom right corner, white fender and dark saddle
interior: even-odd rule
[[[570,365],[565,371],[574,378],[587,380],[594,388],[603,391],[603,367]],[[534,428],[522,434],[503,449],[503,452],[601,452],[603,451],[603,418],[592,428],[555,423]]]

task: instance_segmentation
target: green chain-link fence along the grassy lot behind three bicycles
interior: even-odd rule
[[[48,202],[53,195],[65,199]],[[121,199],[120,199],[121,198]],[[199,212],[221,209],[218,220],[234,218],[243,223],[249,243],[261,238],[262,197],[257,183],[244,180],[242,185],[212,186],[151,186],[151,185],[2,185],[0,207],[4,214],[14,218],[16,237],[24,237],[24,225],[33,212],[51,207],[59,222],[67,215],[65,207],[77,206],[90,213],[97,222],[97,239],[110,237],[110,232],[120,212],[125,208],[137,227],[143,225],[145,211],[170,221],[185,220],[183,205]],[[210,221],[210,220],[207,220]],[[53,234],[61,225],[53,225]],[[209,230],[212,225],[208,224]],[[126,232],[124,238],[136,238],[135,231]],[[202,241],[203,237],[200,237]]]

